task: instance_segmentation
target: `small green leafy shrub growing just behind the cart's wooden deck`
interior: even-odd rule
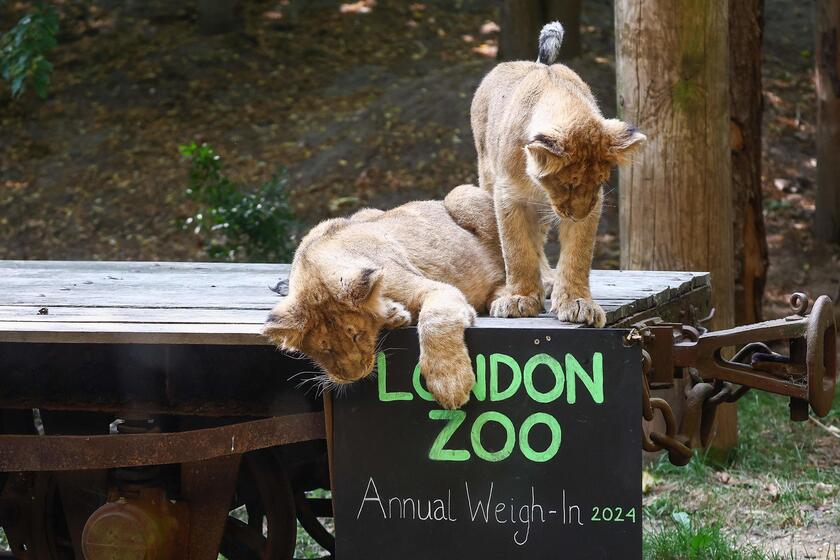
[[[288,262],[295,247],[295,220],[288,200],[288,173],[249,188],[228,178],[221,157],[207,144],[179,147],[190,162],[187,196],[199,204],[185,227],[200,236],[208,256],[226,261]]]

